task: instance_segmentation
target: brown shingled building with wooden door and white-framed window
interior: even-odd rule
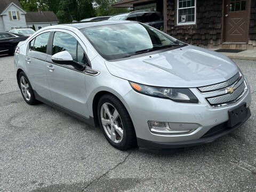
[[[212,49],[256,50],[256,0],[122,0],[113,7],[160,11],[165,33]]]

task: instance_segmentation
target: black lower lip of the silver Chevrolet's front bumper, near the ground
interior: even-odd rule
[[[234,131],[238,127],[241,127],[247,121],[247,119],[250,118],[250,116],[251,116],[250,108],[247,108],[247,115],[243,122],[231,128],[226,127],[225,130],[219,132],[218,134],[213,135],[212,137],[200,138],[200,139],[191,140],[191,141],[179,141],[179,142],[157,142],[157,141],[149,141],[149,140],[137,138],[137,142],[140,148],[147,148],[147,149],[173,149],[173,148],[194,147],[198,145],[203,145],[205,143],[215,141],[218,138],[222,137],[223,135],[226,135]]]

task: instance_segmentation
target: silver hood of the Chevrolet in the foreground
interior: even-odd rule
[[[105,63],[110,74],[114,76],[164,87],[211,85],[226,81],[238,71],[235,63],[225,55],[192,45]]]

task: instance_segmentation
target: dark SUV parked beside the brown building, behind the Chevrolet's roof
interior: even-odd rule
[[[130,20],[146,23],[157,29],[163,29],[164,20],[160,12],[157,11],[133,11],[130,13],[115,14],[108,20]]]

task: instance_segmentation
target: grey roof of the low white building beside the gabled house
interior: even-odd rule
[[[37,22],[59,22],[59,19],[52,11],[27,12],[26,23]]]

